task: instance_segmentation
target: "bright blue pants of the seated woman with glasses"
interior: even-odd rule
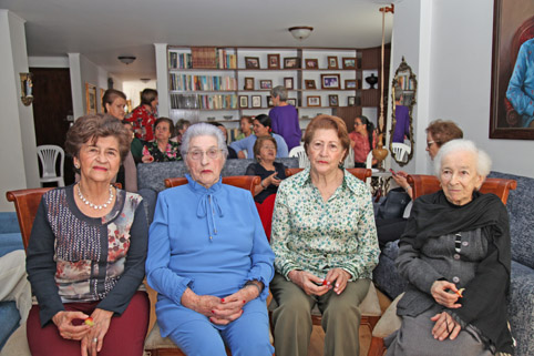
[[[249,303],[263,303],[259,299]],[[247,311],[248,309],[248,311]],[[269,342],[267,308],[245,308],[244,314],[218,329],[209,319],[191,319],[181,324],[168,337],[187,356],[226,356],[225,344],[233,356],[269,355],[275,352]]]

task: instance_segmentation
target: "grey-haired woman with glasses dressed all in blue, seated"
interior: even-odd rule
[[[250,193],[222,183],[223,133],[185,132],[187,184],[157,195],[146,279],[157,323],[186,355],[271,356],[266,298],[275,258]]]

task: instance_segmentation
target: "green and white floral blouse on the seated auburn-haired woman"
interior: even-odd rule
[[[270,244],[276,272],[292,269],[326,277],[343,268],[350,281],[370,278],[378,263],[377,228],[369,190],[347,171],[342,184],[325,202],[309,169],[278,187]]]

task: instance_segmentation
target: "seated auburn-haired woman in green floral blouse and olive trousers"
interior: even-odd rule
[[[325,355],[359,355],[359,305],[379,247],[371,194],[342,169],[349,145],[341,119],[315,118],[305,135],[310,167],[278,189],[270,240],[277,356],[307,355],[316,304],[326,332]]]

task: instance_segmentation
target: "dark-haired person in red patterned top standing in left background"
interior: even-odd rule
[[[157,103],[157,91],[147,88],[141,93],[141,104],[125,119],[132,122],[137,139],[146,142],[154,140]]]

